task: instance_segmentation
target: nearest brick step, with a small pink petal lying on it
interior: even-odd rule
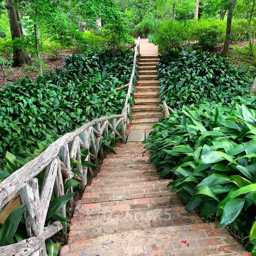
[[[126,231],[119,225],[90,227],[77,232],[79,237],[62,247],[61,255],[76,256],[219,256],[245,253],[226,229],[218,230],[216,223],[197,223],[167,227],[148,227]],[[91,232],[91,233],[89,233]],[[182,243],[185,239],[187,242]],[[81,251],[83,254],[81,254]],[[72,254],[70,254],[72,252]]]

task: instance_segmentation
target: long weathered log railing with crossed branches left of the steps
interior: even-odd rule
[[[130,113],[131,91],[134,83],[137,56],[139,54],[139,38],[134,50],[133,70],[130,77],[125,106],[122,113],[101,117],[88,122],[72,133],[67,133],[52,143],[38,157],[26,163],[0,183],[0,209],[3,206],[13,206],[12,201],[18,196],[19,202],[27,203],[24,211],[25,225],[29,239],[20,241],[13,245],[0,247],[1,256],[47,256],[45,240],[52,237],[62,229],[59,221],[45,227],[48,207],[51,195],[54,192],[55,198],[64,195],[64,185],[67,179],[73,178],[81,182],[84,189],[87,179],[92,179],[93,171],[74,163],[80,171],[80,176],[72,171],[70,160],[72,158],[81,162],[81,148],[88,150],[86,161],[98,165],[98,159],[103,160],[102,137],[123,136],[126,138],[128,115]],[[121,131],[121,134],[119,133]],[[35,178],[43,169],[45,176],[41,193],[39,193],[38,179]],[[68,193],[72,192],[72,188]],[[19,194],[18,194],[19,193]],[[16,206],[17,207],[17,206]],[[11,208],[11,207],[9,207]],[[66,206],[61,208],[61,213],[66,217]],[[6,213],[5,213],[6,214]]]

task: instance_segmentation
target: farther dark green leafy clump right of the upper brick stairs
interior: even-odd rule
[[[161,56],[157,67],[159,96],[172,108],[208,101],[225,104],[235,96],[250,93],[251,81],[246,71],[219,55],[172,49]]]

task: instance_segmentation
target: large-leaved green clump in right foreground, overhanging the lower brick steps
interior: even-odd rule
[[[175,110],[144,143],[160,176],[175,177],[169,186],[189,202],[188,211],[199,208],[201,217],[219,218],[221,227],[235,233],[239,229],[243,242],[254,225],[255,243],[256,112],[249,107],[255,108],[256,96],[237,101]]]

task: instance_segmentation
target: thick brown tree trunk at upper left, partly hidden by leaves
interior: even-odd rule
[[[13,7],[12,0],[5,0],[7,5],[7,14],[10,24],[11,39],[21,38],[23,35],[21,21],[19,18],[19,13],[16,7]],[[31,64],[30,58],[25,50],[17,49],[16,46],[13,46],[13,67],[20,65]]]

